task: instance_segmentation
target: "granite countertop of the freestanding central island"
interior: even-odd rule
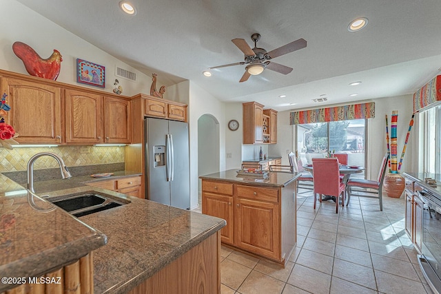
[[[290,182],[296,180],[298,177],[301,176],[301,174],[299,173],[291,174],[285,172],[269,171],[267,178],[257,178],[251,176],[249,178],[245,178],[242,176],[238,176],[236,171],[238,171],[238,169],[229,169],[227,171],[220,171],[218,173],[200,176],[199,178],[203,180],[236,182],[238,184],[252,186],[285,187],[289,185]]]

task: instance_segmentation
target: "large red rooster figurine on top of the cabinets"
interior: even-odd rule
[[[15,42],[12,44],[12,50],[23,61],[26,71],[31,76],[57,80],[61,69],[61,61],[63,61],[58,50],[54,50],[54,53],[48,59],[42,59],[37,52],[25,43]]]

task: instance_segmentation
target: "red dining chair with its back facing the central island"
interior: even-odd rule
[[[338,200],[342,196],[342,207],[345,206],[345,184],[340,182],[340,172],[337,158],[312,158],[314,178],[314,209],[316,209],[317,194],[320,203],[322,195],[336,197],[336,213]]]

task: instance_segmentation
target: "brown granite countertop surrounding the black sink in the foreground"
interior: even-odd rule
[[[117,172],[112,178],[133,175]],[[220,218],[83,185],[109,179],[79,176],[34,183],[37,194],[49,197],[99,191],[130,201],[78,219],[59,208],[50,213],[34,211],[27,190],[0,174],[0,214],[11,211],[17,219],[7,231],[12,240],[3,246],[0,238],[0,273],[11,277],[47,273],[94,250],[94,293],[127,293],[225,227]],[[57,191],[46,191],[51,189]],[[39,207],[52,207],[35,199]],[[106,236],[107,244],[102,246]],[[8,285],[0,284],[3,291],[6,288],[1,286]]]

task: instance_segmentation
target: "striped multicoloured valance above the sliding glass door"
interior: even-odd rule
[[[375,102],[291,112],[290,125],[375,117]]]

